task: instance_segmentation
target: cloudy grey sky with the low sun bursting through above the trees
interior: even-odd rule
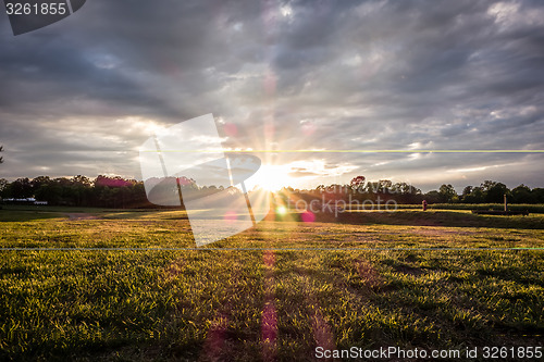
[[[88,0],[18,36],[0,14],[0,177],[141,179],[153,133],[209,113],[270,187],[544,187],[544,2]]]

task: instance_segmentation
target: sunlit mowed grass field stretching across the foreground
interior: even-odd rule
[[[0,247],[20,249],[0,251],[0,360],[542,345],[544,215],[283,219],[183,250],[183,211],[1,210]]]

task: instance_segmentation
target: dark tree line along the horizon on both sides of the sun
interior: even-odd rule
[[[166,195],[178,197],[176,183],[164,183],[168,186],[162,190]],[[177,180],[184,195],[193,197],[210,196],[224,190],[222,186],[199,187],[190,179]],[[166,187],[166,186],[165,186]],[[227,188],[231,195],[239,194],[237,188]],[[485,180],[480,186],[467,186],[461,194],[457,194],[452,185],[442,185],[437,190],[422,192],[419,188],[407,183],[393,183],[388,179],[366,182],[364,176],[357,176],[346,185],[319,185],[313,189],[283,188],[280,196],[294,195],[308,202],[313,198],[335,199],[363,202],[364,200],[395,200],[398,203],[502,203],[507,195],[510,203],[544,203],[544,188],[533,188],[519,185],[512,189],[505,184]],[[74,177],[50,178],[39,176],[35,178],[17,178],[8,182],[0,178],[0,198],[25,199],[35,198],[47,201],[51,205],[97,207],[97,208],[156,208],[147,199],[144,183],[136,179],[126,179],[120,176],[99,175],[95,179],[77,175]],[[224,199],[227,202],[227,199]],[[182,200],[183,202],[183,200]]]

